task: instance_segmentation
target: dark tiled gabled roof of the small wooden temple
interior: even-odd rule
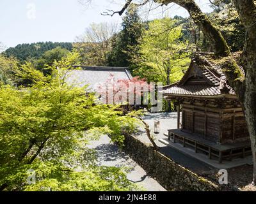
[[[227,84],[227,78],[220,66],[214,64],[208,57],[209,54],[197,53],[182,80],[176,84],[163,87],[163,94],[166,96],[218,96],[221,94],[235,96],[236,93]],[[192,65],[200,69],[200,73],[205,80],[202,84],[186,84],[191,75],[191,69],[193,69]]]

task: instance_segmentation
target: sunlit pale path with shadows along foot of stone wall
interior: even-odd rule
[[[127,167],[127,179],[142,186],[147,191],[166,191],[156,180],[136,164],[125,152],[111,143],[108,136],[102,136],[99,141],[92,141],[88,147],[97,150],[98,163],[102,166]]]

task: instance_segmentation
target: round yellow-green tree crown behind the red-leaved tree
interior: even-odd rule
[[[182,28],[170,18],[153,20],[143,31],[140,55],[133,56],[133,62],[140,68],[136,74],[148,82],[177,82],[189,65],[188,43],[180,40]]]

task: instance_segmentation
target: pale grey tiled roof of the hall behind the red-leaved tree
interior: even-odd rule
[[[88,85],[88,92],[96,91],[99,84],[107,82],[109,77],[113,75],[115,80],[131,80],[132,75],[125,67],[104,67],[104,66],[74,66],[81,68],[79,70],[69,70],[66,82],[70,85],[84,87]]]

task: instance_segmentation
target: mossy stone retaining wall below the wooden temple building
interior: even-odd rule
[[[125,136],[125,152],[167,191],[218,191],[216,184],[199,177],[134,136]]]

